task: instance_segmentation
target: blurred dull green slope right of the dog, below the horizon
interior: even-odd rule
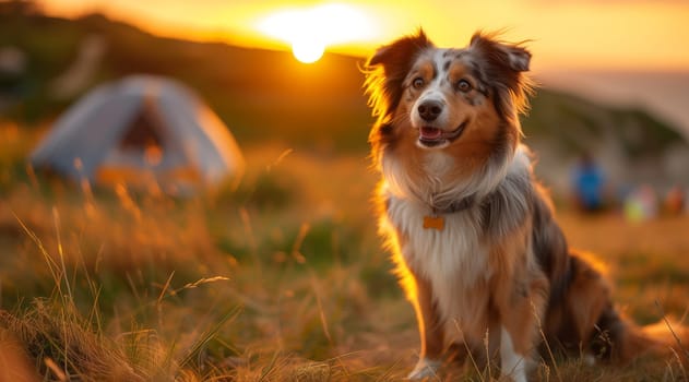
[[[611,192],[649,183],[664,192],[687,186],[689,146],[678,130],[639,108],[618,108],[547,89],[532,99],[523,120],[538,175],[556,191],[586,153],[597,159]]]

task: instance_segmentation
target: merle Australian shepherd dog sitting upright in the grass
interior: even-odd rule
[[[546,346],[625,362],[673,345],[625,320],[595,262],[568,248],[520,143],[530,60],[496,35],[444,49],[419,31],[365,68],[379,225],[420,332],[409,379],[449,349],[526,381]]]

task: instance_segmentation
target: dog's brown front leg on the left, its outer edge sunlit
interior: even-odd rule
[[[437,375],[442,365],[444,333],[438,307],[432,299],[430,283],[419,276],[415,276],[414,279],[416,283],[416,301],[413,302],[418,321],[421,351],[418,362],[409,373],[408,379],[420,380]]]

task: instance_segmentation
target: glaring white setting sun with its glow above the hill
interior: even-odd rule
[[[305,63],[318,61],[329,46],[371,39],[376,34],[364,12],[335,3],[276,11],[258,28],[289,44],[295,58]]]

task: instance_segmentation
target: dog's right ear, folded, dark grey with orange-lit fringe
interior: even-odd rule
[[[498,112],[515,118],[515,114],[525,111],[532,82],[523,72],[528,71],[531,52],[522,44],[503,43],[495,34],[480,32],[472,36],[468,50],[494,91]]]

